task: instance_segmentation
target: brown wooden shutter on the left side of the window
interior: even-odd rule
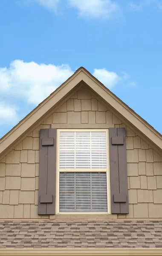
[[[55,214],[56,129],[40,130],[38,214]]]

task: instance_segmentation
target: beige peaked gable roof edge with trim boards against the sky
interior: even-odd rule
[[[156,151],[159,154],[162,154],[162,135],[84,67],[80,67],[67,81],[61,84],[60,87],[0,139],[0,159],[20,143],[31,132],[31,129],[36,128],[39,125],[40,119],[45,119],[47,114],[52,113],[51,111],[54,111],[56,106],[58,107],[62,99],[66,96],[70,97],[70,93],[78,90],[77,88],[81,83],[84,83],[87,88],[97,93],[109,105],[112,112],[116,111],[126,125],[131,126],[132,130],[140,135],[142,139],[148,141],[151,146],[156,147]]]

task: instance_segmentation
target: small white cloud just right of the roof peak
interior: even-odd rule
[[[94,69],[93,76],[95,76],[107,88],[114,87],[121,79],[115,72],[103,69]]]

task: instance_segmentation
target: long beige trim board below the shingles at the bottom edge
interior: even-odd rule
[[[0,249],[5,256],[161,256],[162,249]]]

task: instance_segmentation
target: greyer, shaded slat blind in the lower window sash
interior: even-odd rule
[[[107,212],[106,173],[60,173],[60,212]]]

